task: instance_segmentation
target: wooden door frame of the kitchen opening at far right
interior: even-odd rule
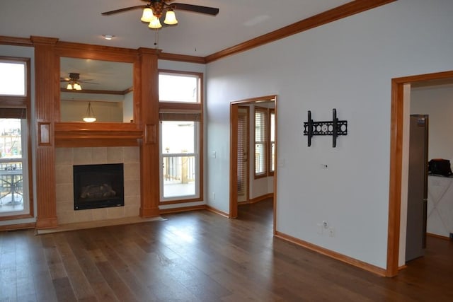
[[[403,170],[403,122],[404,86],[422,81],[453,79],[453,71],[420,74],[391,79],[390,117],[390,182],[389,182],[389,225],[387,234],[386,276],[398,274],[401,220],[401,175]]]

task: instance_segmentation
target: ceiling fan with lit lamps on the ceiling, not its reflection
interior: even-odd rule
[[[175,0],[142,0],[148,2],[148,4],[130,6],[126,8],[115,9],[114,11],[105,11],[102,13],[103,16],[110,16],[115,13],[122,13],[123,11],[132,11],[137,8],[143,8],[143,14],[141,21],[149,23],[149,28],[158,29],[162,27],[161,18],[165,13],[165,25],[176,25],[175,10],[178,11],[191,11],[195,13],[205,13],[207,15],[216,16],[219,13],[219,8],[213,8],[208,6],[199,6],[194,4],[183,4],[183,3],[172,3]]]

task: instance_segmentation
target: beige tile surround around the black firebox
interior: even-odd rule
[[[73,165],[123,163],[125,206],[74,211]],[[139,216],[139,147],[56,148],[55,176],[59,224]]]

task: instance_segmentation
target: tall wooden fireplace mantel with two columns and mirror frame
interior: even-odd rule
[[[158,54],[156,50],[59,42],[31,37],[35,47],[36,228],[58,226],[56,211],[55,149],[57,147],[138,146],[141,217],[159,216]],[[111,48],[111,49],[110,49]],[[80,51],[75,51],[80,50]],[[62,123],[59,120],[59,57],[114,61],[121,52],[133,56],[134,123]],[[53,76],[50,76],[53,75]]]

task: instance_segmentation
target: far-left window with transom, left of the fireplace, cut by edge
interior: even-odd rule
[[[0,220],[32,216],[30,60],[0,57]]]

